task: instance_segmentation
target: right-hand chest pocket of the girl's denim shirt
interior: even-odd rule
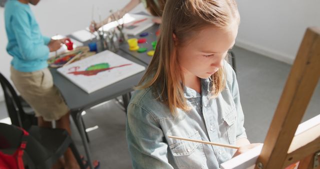
[[[226,129],[227,137],[230,144],[234,144],[236,140],[236,115],[235,109],[223,114],[223,123]]]

